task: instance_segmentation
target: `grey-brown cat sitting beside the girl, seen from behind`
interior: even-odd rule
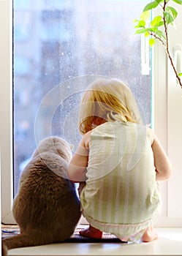
[[[64,241],[80,219],[80,200],[67,176],[72,151],[67,141],[45,138],[20,176],[12,213],[20,234],[2,239],[7,250]]]

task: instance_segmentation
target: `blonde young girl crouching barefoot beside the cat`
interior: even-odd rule
[[[153,217],[159,212],[156,181],[171,174],[170,161],[153,131],[143,126],[129,88],[117,79],[91,83],[80,105],[83,138],[69,165],[72,181],[86,181],[80,193],[88,238],[113,233],[121,241],[157,238]]]

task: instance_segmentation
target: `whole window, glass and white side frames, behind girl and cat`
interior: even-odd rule
[[[182,120],[181,116],[174,114],[174,94],[181,97],[181,91],[174,91],[171,80],[170,86],[167,85],[167,79],[172,79],[172,72],[165,68],[164,50],[159,45],[156,44],[153,51],[152,76],[148,70],[151,63],[143,62],[148,50],[141,52],[141,45],[145,42],[134,35],[132,20],[140,15],[144,4],[142,0],[15,0],[12,80],[12,3],[0,1],[2,222],[13,222],[12,199],[17,191],[20,171],[29,161],[37,141],[48,135],[59,135],[71,143],[73,141],[76,146],[80,140],[76,129],[78,102],[84,86],[97,76],[107,75],[129,83],[140,102],[140,109],[145,113],[145,124],[151,123],[152,119],[153,128],[170,154],[176,169],[175,177],[162,185],[164,206],[159,225],[181,225],[178,201],[181,195],[179,127]],[[131,5],[134,17],[128,9]],[[179,32],[178,37],[180,35]],[[177,42],[180,40],[178,38]],[[172,124],[178,122],[178,129],[172,127],[170,121]],[[73,123],[75,127],[72,127]],[[67,127],[74,130],[72,136]]]

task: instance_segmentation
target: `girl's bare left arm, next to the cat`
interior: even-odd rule
[[[86,181],[86,167],[88,165],[90,132],[83,135],[68,167],[69,179],[73,182]]]

